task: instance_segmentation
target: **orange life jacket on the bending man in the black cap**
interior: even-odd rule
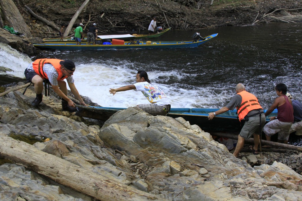
[[[51,65],[53,65],[53,67],[56,69],[56,71],[59,74],[57,80],[63,80],[65,78],[67,78],[68,76],[63,75],[63,72],[61,70],[60,61],[63,61],[63,60],[60,60],[60,59],[37,59],[36,61],[33,62],[33,69],[42,78],[48,79],[47,74],[43,71],[43,65],[45,63],[50,63]]]

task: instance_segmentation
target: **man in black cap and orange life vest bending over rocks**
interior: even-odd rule
[[[63,110],[75,112],[74,103],[67,97],[66,82],[63,81],[66,79],[72,94],[80,101],[81,105],[87,106],[74,85],[72,75],[75,70],[76,66],[71,60],[37,59],[30,63],[25,69],[24,75],[28,82],[34,84],[36,92],[36,99],[31,104],[37,107],[42,102],[43,80],[48,79],[53,91],[62,98]]]

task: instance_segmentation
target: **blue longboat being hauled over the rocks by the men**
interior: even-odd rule
[[[76,115],[106,121],[114,113],[126,108],[118,107],[85,107],[80,106]],[[171,108],[167,116],[177,118],[182,117],[191,125],[196,124],[205,131],[240,131],[243,123],[240,123],[237,116],[237,110],[229,110],[215,116],[213,120],[208,120],[208,113],[215,112],[219,109],[208,108]],[[264,110],[266,112],[267,110]],[[277,116],[277,110],[274,110],[269,116]],[[267,116],[266,122],[270,119]]]

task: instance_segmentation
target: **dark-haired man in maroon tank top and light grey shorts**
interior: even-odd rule
[[[271,141],[271,136],[278,132],[278,142],[287,144],[289,137],[289,130],[294,122],[294,109],[291,99],[286,96],[287,86],[279,83],[275,86],[276,94],[279,96],[275,99],[271,107],[265,112],[268,116],[273,110],[277,108],[278,113],[276,116],[270,117],[270,122],[265,124],[263,132],[267,141]],[[270,147],[270,146],[263,146]]]

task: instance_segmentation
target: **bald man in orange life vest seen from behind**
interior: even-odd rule
[[[216,112],[209,113],[208,119],[212,120],[216,115],[233,110],[235,107],[237,108],[239,121],[245,120],[245,123],[238,135],[238,142],[233,155],[237,157],[243,148],[244,139],[249,139],[252,136],[254,136],[254,146],[251,147],[251,151],[253,154],[259,154],[259,135],[265,124],[265,115],[258,99],[253,94],[245,91],[242,83],[236,85],[236,95],[232,97],[230,103]]]

